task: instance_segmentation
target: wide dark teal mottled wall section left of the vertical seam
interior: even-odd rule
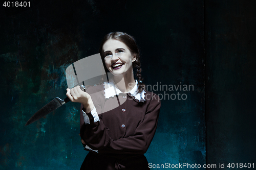
[[[51,99],[65,98],[67,66],[98,53],[111,31],[136,37],[146,84],[194,86],[154,89],[165,99],[148,162],[206,162],[203,1],[31,2],[26,10],[0,10],[1,169],[79,169],[87,154],[79,104],[24,125]],[[186,100],[172,100],[178,92]]]

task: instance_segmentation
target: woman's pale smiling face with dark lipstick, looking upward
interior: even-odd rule
[[[133,74],[132,62],[136,57],[123,42],[109,39],[103,44],[102,51],[105,66],[113,75]]]

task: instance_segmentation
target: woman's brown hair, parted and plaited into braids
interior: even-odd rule
[[[136,72],[136,77],[138,78],[138,90],[137,93],[142,92],[142,90],[144,89],[145,85],[142,83],[142,77],[141,77],[141,68],[140,68],[140,51],[139,51],[139,47],[136,44],[136,40],[133,36],[123,33],[123,32],[112,32],[109,34],[106,34],[100,44],[100,48],[99,48],[99,53],[102,59],[102,62],[104,62],[104,55],[103,55],[103,51],[102,51],[102,47],[104,45],[104,43],[106,41],[108,41],[109,39],[116,39],[118,41],[123,42],[130,50],[130,52],[132,53],[132,55],[135,55],[136,60],[135,62],[133,62],[133,68],[137,68],[137,72]],[[103,64],[105,67],[105,64]],[[108,69],[105,67],[105,71],[107,72]]]

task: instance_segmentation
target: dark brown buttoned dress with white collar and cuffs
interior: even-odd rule
[[[80,112],[80,135],[90,151],[81,169],[150,169],[143,155],[154,137],[160,112],[159,96],[138,81],[122,93],[114,81],[89,87],[94,108]]]

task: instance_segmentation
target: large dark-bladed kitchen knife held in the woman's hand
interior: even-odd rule
[[[83,91],[85,92],[86,87],[84,87],[83,85],[81,85],[81,87],[83,88]],[[39,120],[40,118],[51,113],[52,111],[56,110],[60,106],[65,105],[69,101],[70,101],[70,99],[68,97],[64,100],[59,99],[58,97],[53,99],[51,102],[49,102],[44,107],[42,107],[40,110],[38,110],[32,117],[30,117],[30,119],[28,120],[28,122],[26,123],[25,126],[34,123],[36,120]]]

